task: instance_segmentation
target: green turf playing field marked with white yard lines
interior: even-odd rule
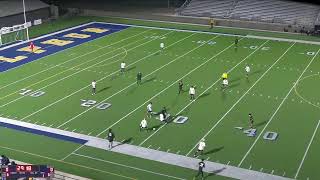
[[[193,156],[206,139],[201,157],[214,162],[297,179],[317,179],[319,46],[293,42],[130,27],[0,75],[2,117],[104,138],[112,128],[116,140]],[[160,42],[165,49],[159,52]],[[66,62],[68,61],[68,62]],[[124,74],[120,63],[127,64]],[[62,64],[63,63],[63,64]],[[61,65],[62,64],[62,65]],[[244,67],[251,67],[246,78]],[[142,72],[142,84],[136,74]],[[229,87],[221,90],[221,74]],[[97,80],[97,94],[90,83]],[[184,92],[178,95],[178,81]],[[196,86],[196,100],[188,89]],[[21,89],[40,90],[38,98]],[[96,103],[81,106],[84,101]],[[139,132],[147,103],[185,124],[149,118],[154,131]],[[99,103],[111,103],[107,110]],[[235,127],[249,128],[255,137]],[[278,133],[275,140],[263,138]],[[192,179],[196,171],[89,147],[0,129],[1,152],[30,163],[50,163],[93,179]],[[271,134],[271,133],[269,133]],[[72,154],[70,154],[72,153]],[[67,158],[65,158],[67,157]],[[64,160],[62,160],[64,159]],[[117,163],[117,164],[115,164]],[[208,175],[206,179],[227,179]]]

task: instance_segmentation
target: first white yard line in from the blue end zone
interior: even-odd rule
[[[71,59],[69,59],[69,60],[67,60],[67,61],[64,61],[64,62],[62,62],[62,63],[59,63],[59,64],[57,64],[57,65],[55,65],[55,66],[52,66],[52,67],[50,67],[50,68],[48,68],[48,69],[44,69],[44,70],[39,71],[39,72],[37,72],[37,73],[34,73],[34,74],[30,75],[30,76],[26,76],[26,77],[24,77],[24,78],[22,78],[22,79],[19,79],[19,80],[17,80],[17,81],[11,82],[11,83],[9,83],[9,84],[7,84],[7,85],[5,85],[5,86],[2,86],[2,87],[0,87],[0,90],[3,89],[3,88],[6,88],[6,87],[8,87],[8,86],[11,86],[11,85],[13,85],[13,84],[16,84],[16,83],[18,83],[18,82],[21,82],[21,81],[23,81],[23,80],[26,80],[26,79],[28,79],[28,78],[30,78],[30,77],[36,76],[36,75],[38,75],[38,74],[41,74],[41,73],[43,73],[43,72],[45,72],[45,71],[48,71],[48,70],[50,70],[50,69],[53,69],[53,68],[55,68],[55,67],[61,66],[61,65],[65,64],[65,63],[68,63],[68,62],[73,61],[73,60],[75,60],[75,59],[81,58],[81,57],[86,56],[86,55],[88,55],[88,54],[92,54],[92,53],[97,52],[97,51],[99,51],[99,50],[101,50],[101,49],[104,49],[104,48],[113,46],[113,45],[118,44],[118,43],[120,43],[120,42],[122,42],[122,41],[124,41],[124,40],[130,39],[130,38],[133,38],[133,37],[136,37],[136,36],[141,35],[141,34],[143,34],[143,33],[145,33],[145,32],[148,32],[148,31],[150,31],[150,30],[142,31],[141,33],[138,33],[138,34],[136,34],[136,35],[134,35],[134,36],[127,37],[127,38],[122,39],[122,40],[120,40],[120,41],[117,41],[117,42],[115,42],[115,43],[112,43],[112,44],[109,44],[109,45],[107,45],[107,46],[104,46],[104,47],[102,47],[102,48],[98,48],[98,49],[96,49],[96,50],[94,50],[94,51],[90,51],[90,52],[85,53],[85,54],[82,54],[82,55],[80,55],[80,56],[71,58]],[[121,31],[118,31],[118,32],[121,32]],[[114,34],[114,33],[113,33],[113,34]],[[105,38],[105,37],[106,37],[106,36],[103,36],[103,37],[101,37],[101,38]],[[98,38],[98,39],[100,39],[100,38]],[[95,39],[95,40],[97,40],[97,39]],[[88,42],[91,42],[91,41],[88,41]],[[87,42],[87,43],[88,43],[88,42]],[[80,45],[83,45],[83,44],[80,44]],[[80,46],[80,45],[78,45],[78,46]],[[73,48],[75,48],[75,47],[77,47],[77,46],[74,46]],[[63,51],[65,51],[65,50],[67,50],[67,49],[69,49],[69,48],[66,48],[66,49],[64,49]],[[59,52],[62,52],[62,51],[59,51]],[[54,54],[56,54],[56,53],[54,53]],[[54,54],[51,54],[51,55],[49,55],[49,56],[52,56],[52,55],[54,55]],[[45,56],[45,57],[49,57],[49,56]],[[42,59],[42,58],[40,58],[40,59]],[[39,60],[39,59],[38,59],[38,60]],[[39,61],[33,61],[33,62],[39,62]]]

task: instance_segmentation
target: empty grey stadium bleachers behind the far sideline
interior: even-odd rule
[[[313,26],[320,6],[284,0],[192,0],[180,14]]]

